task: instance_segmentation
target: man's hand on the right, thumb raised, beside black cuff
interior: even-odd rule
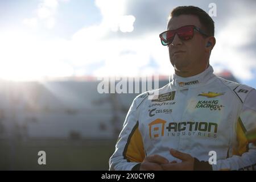
[[[168,164],[161,164],[163,170],[166,171],[192,171],[194,169],[194,158],[183,152],[171,149],[170,153],[177,159],[182,160],[182,162],[177,163],[175,160]]]

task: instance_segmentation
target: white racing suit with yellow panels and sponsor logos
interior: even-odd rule
[[[139,94],[127,113],[110,170],[131,170],[147,155],[170,162],[170,148],[207,163],[213,170],[256,169],[256,90],[213,74],[209,66],[192,77],[172,75],[169,84]],[[254,133],[255,134],[255,133]],[[210,151],[216,163],[209,164]],[[198,163],[199,162],[199,163]],[[202,163],[201,163],[202,162]]]

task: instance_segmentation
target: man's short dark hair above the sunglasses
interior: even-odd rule
[[[200,23],[205,28],[209,36],[214,36],[214,22],[212,18],[202,9],[196,6],[178,6],[171,12],[171,17],[179,15],[195,15],[199,18]]]

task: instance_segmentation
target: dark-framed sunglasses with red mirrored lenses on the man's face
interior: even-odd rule
[[[162,34],[160,34],[159,37],[161,39],[161,43],[163,44],[163,46],[168,46],[174,40],[175,34],[177,34],[177,36],[179,36],[179,38],[181,40],[192,39],[193,35],[194,35],[194,30],[200,32],[204,36],[208,36],[200,28],[193,26],[193,25],[187,25],[184,27],[177,28],[176,30],[167,30],[167,31],[163,32]]]

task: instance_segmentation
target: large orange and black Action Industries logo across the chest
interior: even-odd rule
[[[217,138],[218,124],[213,122],[169,122],[167,124],[163,119],[155,119],[148,124],[149,137],[151,139],[158,137],[179,137],[200,136]]]

